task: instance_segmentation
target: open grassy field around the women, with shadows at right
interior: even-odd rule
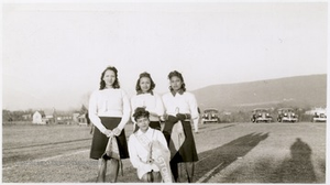
[[[3,183],[95,182],[89,127],[3,126]],[[132,133],[131,124],[125,128]],[[221,123],[195,134],[199,183],[326,183],[326,123]],[[139,182],[129,160],[118,182]]]

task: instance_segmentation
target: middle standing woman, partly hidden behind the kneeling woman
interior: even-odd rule
[[[136,95],[131,98],[131,105],[132,110],[144,107],[150,112],[150,127],[161,130],[160,117],[164,115],[164,106],[161,96],[153,91],[155,86],[148,73],[140,74],[135,86]],[[136,131],[139,129],[136,121],[134,119],[132,121],[134,123],[133,130]]]

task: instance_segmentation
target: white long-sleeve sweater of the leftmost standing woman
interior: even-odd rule
[[[123,129],[131,115],[129,97],[122,89],[95,90],[89,98],[88,113],[90,121],[101,132],[106,131],[106,127],[99,117],[121,118],[118,128]]]

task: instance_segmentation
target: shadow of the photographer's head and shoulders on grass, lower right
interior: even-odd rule
[[[299,138],[290,146],[290,157],[285,159],[279,166],[270,159],[260,159],[253,166],[238,168],[224,177],[224,183],[317,183],[310,160],[311,149]],[[251,171],[253,177],[241,176]],[[241,178],[240,182],[239,178]],[[323,182],[324,183],[324,182]]]

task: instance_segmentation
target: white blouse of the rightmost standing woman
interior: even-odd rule
[[[166,92],[163,95],[163,102],[167,115],[176,116],[176,113],[190,113],[191,119],[197,119],[198,105],[195,95],[188,91],[183,94]]]

